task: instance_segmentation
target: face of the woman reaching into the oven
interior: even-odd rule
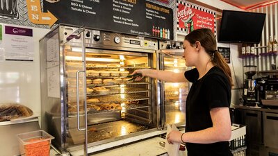
[[[183,58],[186,60],[186,66],[192,67],[195,66],[195,56],[196,56],[196,48],[195,46],[191,46],[187,40],[183,41]]]

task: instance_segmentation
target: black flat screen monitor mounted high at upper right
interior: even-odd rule
[[[223,10],[218,42],[258,44],[264,23],[264,13]]]

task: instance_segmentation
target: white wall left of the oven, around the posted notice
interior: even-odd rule
[[[2,32],[6,26],[2,24]],[[18,26],[20,28],[31,28]],[[40,115],[40,45],[39,40],[49,29],[33,29],[34,60],[27,61],[0,61],[0,103],[20,103]],[[3,47],[5,36],[0,44]]]

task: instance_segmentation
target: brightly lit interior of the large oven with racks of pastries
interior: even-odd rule
[[[87,103],[88,146],[144,134],[146,130],[156,128],[151,79],[133,81],[126,77],[136,69],[152,68],[151,55],[143,52],[85,49],[85,84],[82,86],[86,94],[80,97]],[[71,62],[81,67],[81,64],[76,63],[73,60]],[[74,114],[76,110],[68,111]],[[76,135],[80,132],[76,129],[70,131],[75,131],[70,132],[73,140],[81,140]]]

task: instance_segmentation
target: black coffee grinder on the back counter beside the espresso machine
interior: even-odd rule
[[[243,105],[255,106],[256,105],[256,80],[252,77],[256,74],[256,66],[245,65],[243,66],[243,71],[247,78],[244,80],[243,84]]]

